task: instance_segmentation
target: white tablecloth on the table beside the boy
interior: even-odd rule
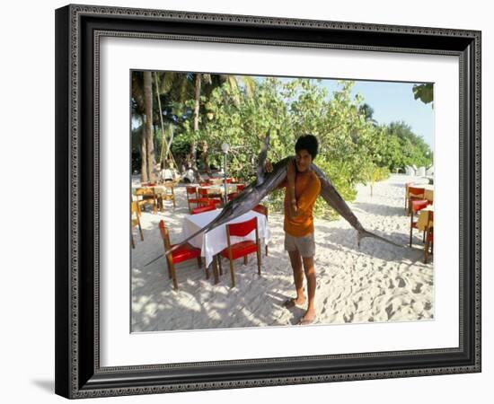
[[[183,220],[181,229],[181,240],[186,239],[190,234],[196,233],[199,229],[204,227],[206,224],[210,223],[217,215],[219,215],[221,209],[211,210],[209,212],[204,212],[198,215],[186,215]],[[227,224],[245,222],[252,217],[257,217],[257,225],[259,230],[259,238],[264,239],[265,242],[269,241],[271,233],[269,232],[268,221],[266,216],[258,212],[251,210],[242,216],[231,220]],[[251,240],[255,242],[256,232],[255,230],[247,234],[245,237],[231,237],[231,242],[242,242],[244,240]],[[206,259],[206,265],[209,266],[213,261],[213,257],[228,247],[228,242],[226,242],[226,224],[221,224],[210,232],[200,233],[192,240],[190,244],[201,250],[200,255]]]

